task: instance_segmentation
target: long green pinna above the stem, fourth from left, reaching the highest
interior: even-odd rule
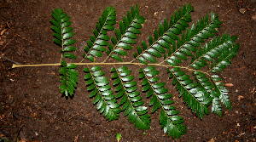
[[[148,37],[149,47],[145,42],[143,42],[143,48],[137,47],[139,55],[134,53],[135,58],[147,65],[147,60],[156,63],[157,60],[154,57],[160,58],[161,54],[166,53],[166,49],[168,51],[167,56],[170,56],[176,50],[174,40],[180,40],[177,35],[181,34],[189,26],[188,23],[192,21],[189,13],[193,10],[194,8],[190,4],[188,6],[184,5],[183,9],[180,8],[179,12],[176,11],[175,16],[171,16],[170,25],[167,20],[164,20],[165,25],[160,24],[159,32],[154,31],[154,40],[153,37]]]

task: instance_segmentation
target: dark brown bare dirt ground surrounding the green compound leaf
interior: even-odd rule
[[[12,69],[14,62],[20,64],[59,63],[60,48],[53,43],[49,20],[55,8],[64,9],[71,16],[73,39],[78,60],[84,53],[83,45],[93,34],[92,29],[103,9],[113,6],[117,20],[131,6],[138,3],[140,14],[147,19],[137,43],[147,40],[154,29],[166,18],[170,20],[178,7],[191,3],[195,11],[190,13],[192,23],[201,16],[218,13],[223,22],[218,34],[237,35],[239,52],[232,64],[218,75],[229,89],[232,110],[223,107],[223,117],[213,113],[201,120],[178,99],[176,87],[169,81],[175,106],[184,118],[186,133],[180,139],[172,139],[160,128],[159,111],[152,114],[151,128],[138,130],[120,113],[119,120],[107,122],[96,110],[84,82],[83,66],[78,67],[79,84],[73,99],[60,93],[60,66],[21,67]],[[1,0],[0,1],[0,134],[10,139],[67,142],[67,141],[256,141],[256,1],[255,0]],[[127,57],[129,58],[129,56]],[[128,59],[129,60],[129,59]],[[76,61],[74,61],[76,62]],[[106,67],[109,72],[111,66]],[[137,66],[130,66],[131,70]],[[109,69],[108,69],[109,68]],[[137,69],[134,69],[137,70]],[[110,77],[107,73],[106,76]],[[134,76],[137,76],[134,74]],[[162,77],[161,79],[164,79]],[[143,94],[146,95],[146,94]],[[149,101],[149,99],[147,100]],[[151,108],[149,108],[151,109]],[[19,132],[20,130],[20,132]]]

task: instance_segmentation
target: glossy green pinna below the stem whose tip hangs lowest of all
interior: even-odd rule
[[[154,70],[154,66],[148,66],[140,69],[140,79],[143,79],[143,92],[148,92],[147,97],[153,95],[149,105],[153,105],[152,113],[160,108],[160,124],[164,128],[164,133],[172,135],[172,138],[178,139],[185,133],[186,128],[183,126],[183,117],[177,116],[179,111],[172,105],[174,101],[170,99],[172,94],[167,94],[168,89],[164,88],[165,82],[158,82],[159,78],[154,77],[159,71]],[[151,78],[149,78],[151,77]],[[156,83],[155,83],[156,82]]]

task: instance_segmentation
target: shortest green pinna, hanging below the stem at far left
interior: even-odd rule
[[[73,95],[74,89],[77,87],[78,83],[78,76],[79,73],[74,70],[74,68],[77,67],[75,64],[69,64],[67,65],[67,62],[65,60],[62,60],[61,62],[61,80],[62,82],[60,88],[61,88],[61,94],[64,93],[66,96],[70,94]]]

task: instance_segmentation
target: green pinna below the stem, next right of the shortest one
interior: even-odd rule
[[[90,97],[95,97],[93,104],[97,103],[97,110],[104,112],[104,116],[107,116],[107,120],[117,120],[119,117],[119,104],[113,95],[113,91],[110,90],[108,85],[108,78],[103,77],[104,71],[101,71],[100,66],[94,66],[92,68],[84,68],[84,72],[87,74],[84,79],[87,80],[87,90],[91,91]]]

